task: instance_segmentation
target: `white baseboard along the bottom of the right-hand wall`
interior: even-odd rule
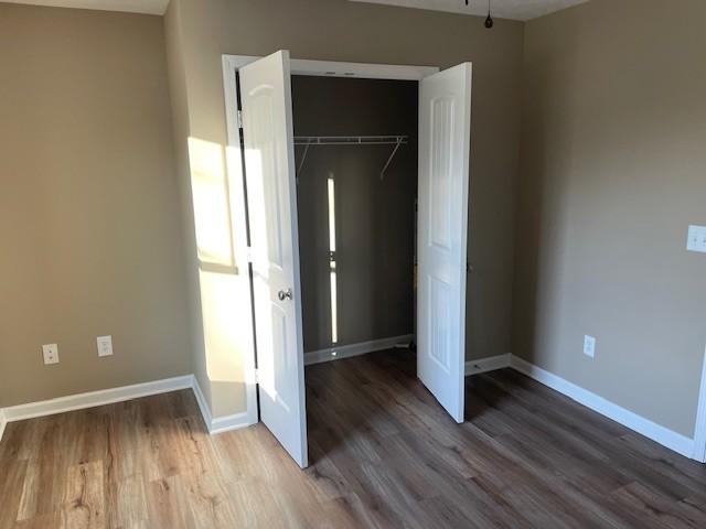
[[[694,457],[694,440],[686,435],[638,415],[517,356],[511,355],[510,367],[674,452]]]

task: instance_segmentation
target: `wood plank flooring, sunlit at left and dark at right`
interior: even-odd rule
[[[190,391],[8,425],[0,528],[696,528],[706,465],[511,370],[457,425],[408,352],[307,368],[312,466]]]

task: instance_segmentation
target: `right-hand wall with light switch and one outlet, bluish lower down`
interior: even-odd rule
[[[692,436],[706,344],[706,2],[525,29],[513,352]],[[585,334],[596,358],[582,355]]]

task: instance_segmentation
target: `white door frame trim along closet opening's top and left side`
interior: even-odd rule
[[[248,64],[263,58],[255,55],[227,55],[222,56],[223,66],[223,89],[225,97],[225,119],[227,129],[226,140],[226,170],[234,185],[231,187],[233,192],[232,204],[242,207],[237,212],[233,212],[234,224],[236,228],[245,230],[245,181],[243,168],[240,164],[240,128],[237,119],[238,111],[238,94],[235,74]],[[395,65],[395,64],[373,64],[373,63],[344,63],[335,61],[312,61],[292,58],[290,61],[292,75],[314,75],[322,77],[345,77],[345,78],[365,78],[365,79],[389,79],[389,80],[421,80],[425,77],[436,74],[440,71],[437,66],[414,66],[414,65]],[[239,213],[238,213],[239,212]],[[247,256],[247,240],[245,237],[235,237],[236,256]],[[301,291],[301,285],[297,285]],[[252,296],[248,293],[248,296]],[[247,302],[253,303],[252,299]],[[255,317],[253,315],[253,317]],[[255,374],[255,336],[253,336],[253,347],[250,350],[244,352],[243,368],[245,375],[245,392],[246,392],[246,414],[248,424],[258,422],[258,403],[257,403],[257,381]]]

